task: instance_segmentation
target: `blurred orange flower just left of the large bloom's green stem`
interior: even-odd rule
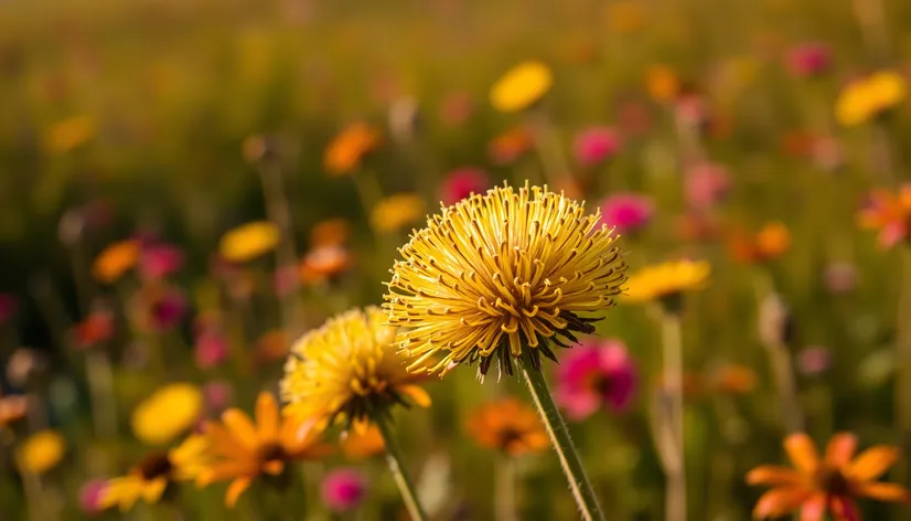
[[[542,453],[550,446],[537,413],[515,397],[476,408],[469,416],[465,428],[482,447],[508,456]]]

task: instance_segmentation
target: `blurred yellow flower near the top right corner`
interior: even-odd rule
[[[886,113],[908,96],[904,78],[894,71],[879,71],[848,84],[838,95],[835,118],[846,127],[860,125]]]

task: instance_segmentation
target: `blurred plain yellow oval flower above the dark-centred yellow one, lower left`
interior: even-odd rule
[[[202,410],[199,389],[189,383],[165,385],[133,410],[132,432],[147,445],[163,445],[190,430]]]

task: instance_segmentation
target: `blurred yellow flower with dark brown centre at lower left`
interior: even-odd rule
[[[205,468],[207,446],[202,436],[190,436],[179,447],[149,453],[126,476],[108,480],[100,492],[103,509],[132,508],[139,499],[157,503],[169,486],[195,478]]]

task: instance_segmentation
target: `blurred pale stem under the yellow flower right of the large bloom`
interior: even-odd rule
[[[658,410],[660,421],[665,426],[665,451],[673,457],[663,459],[667,478],[665,519],[686,520],[686,462],[684,456],[684,371],[683,342],[680,340],[680,318],[675,312],[664,312],[661,321],[664,358],[664,397],[666,406]],[[673,448],[672,448],[673,447]]]

